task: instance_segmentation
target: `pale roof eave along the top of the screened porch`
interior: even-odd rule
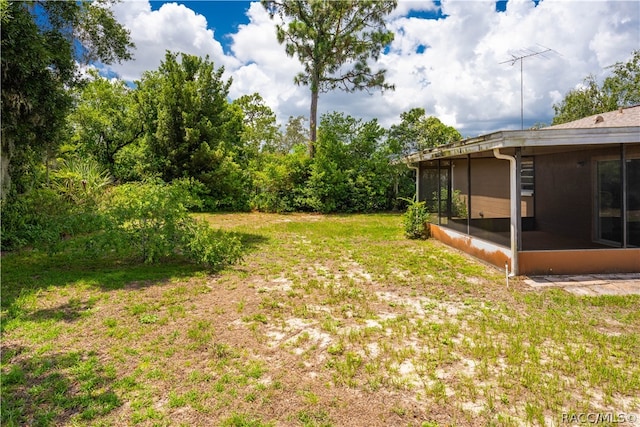
[[[538,129],[500,131],[451,144],[440,145],[404,158],[406,163],[447,159],[494,149],[523,147],[568,147],[640,143],[640,126],[600,129]]]

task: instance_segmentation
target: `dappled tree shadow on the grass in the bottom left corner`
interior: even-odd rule
[[[3,426],[87,423],[122,405],[115,372],[86,352],[22,357],[25,348],[4,348],[2,369]]]

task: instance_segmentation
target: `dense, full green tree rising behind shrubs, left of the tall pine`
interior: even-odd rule
[[[227,101],[231,80],[208,57],[167,52],[157,71],[139,83],[150,172],[171,182],[191,177],[205,185],[218,208],[241,208],[248,159],[242,111]]]

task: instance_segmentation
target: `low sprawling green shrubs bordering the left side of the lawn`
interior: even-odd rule
[[[237,237],[190,215],[202,203],[197,181],[128,183],[94,199],[85,197],[86,186],[78,187],[76,177],[65,176],[57,190],[40,188],[3,201],[3,250],[31,246],[50,254],[81,251],[144,262],[180,255],[212,269],[241,258]]]

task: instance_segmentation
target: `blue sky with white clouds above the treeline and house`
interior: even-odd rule
[[[109,70],[125,80],[158,67],[166,50],[208,55],[232,79],[229,96],[258,92],[280,123],[308,117],[301,70],[275,38],[258,2],[123,0],[116,18],[136,43],[135,60]],[[520,128],[520,67],[514,55],[553,49],[524,62],[525,127],[549,123],[553,104],[593,74],[627,61],[640,47],[637,0],[403,1],[387,20],[394,42],[375,68],[395,91],[321,94],[319,112],[339,111],[385,126],[424,108],[464,136]]]

